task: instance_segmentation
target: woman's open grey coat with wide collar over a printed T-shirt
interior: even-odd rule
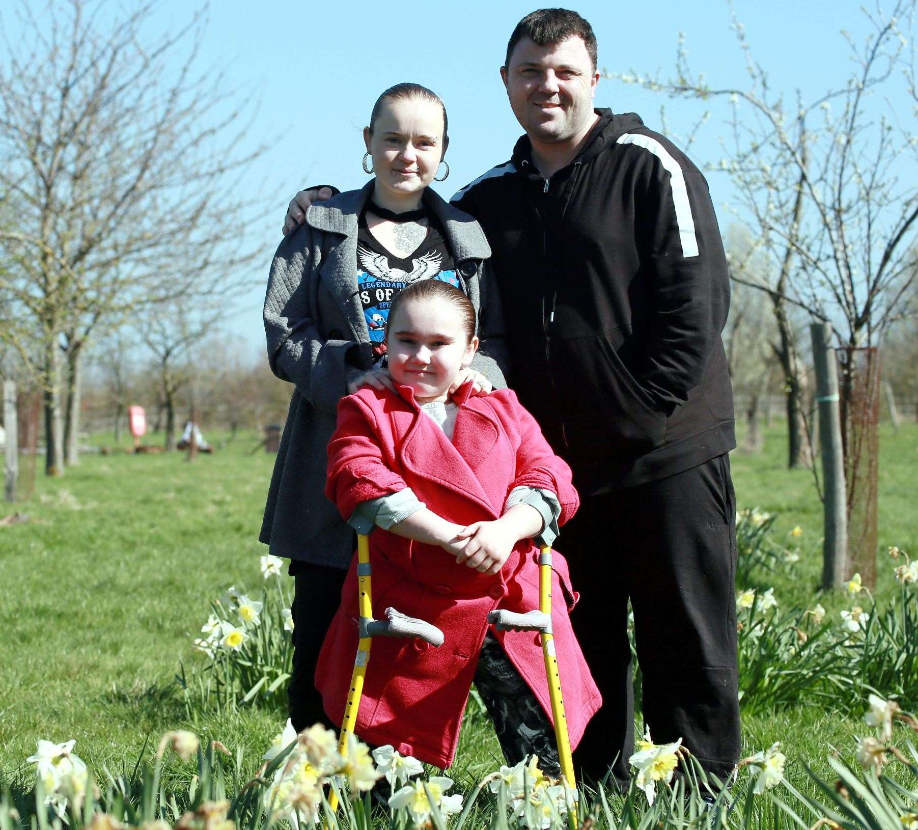
[[[373,365],[370,335],[357,290],[357,219],[373,192],[333,196],[309,207],[306,222],[274,254],[264,329],[274,375],[294,384],[259,539],[276,556],[346,568],[353,530],[324,496],[326,446],[338,400],[348,383]],[[430,188],[431,209],[453,252],[456,275],[479,315],[479,352],[472,363],[495,387],[506,382],[503,320],[497,286],[488,275],[491,255],[475,219]]]

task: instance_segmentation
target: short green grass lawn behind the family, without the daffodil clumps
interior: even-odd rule
[[[211,437],[219,447],[220,436]],[[155,743],[176,727],[241,746],[255,766],[285,713],[249,709],[188,723],[173,678],[180,659],[194,659],[191,640],[208,601],[231,583],[260,589],[265,550],[256,537],[274,456],[250,454],[258,440],[241,432],[194,464],[177,453],[87,454],[62,479],[38,478],[34,498],[16,506],[29,522],[0,527],[0,780],[30,770],[23,762],[39,738],[75,738],[87,762],[120,769],[148,735]],[[767,431],[762,454],[734,453],[737,501],[780,513],[778,536],[803,528],[800,563],[762,585],[773,586],[783,605],[810,605],[821,572],[822,508],[810,471],[785,469],[784,454],[779,427]],[[896,435],[885,427],[880,599],[894,587],[887,545],[918,554],[916,463],[918,425]],[[851,604],[820,600],[836,616]],[[797,784],[803,760],[825,771],[832,747],[849,751],[853,735],[865,733],[857,718],[806,705],[744,717],[744,747],[782,741]],[[462,737],[456,777],[471,780],[499,757],[487,721],[476,716]]]

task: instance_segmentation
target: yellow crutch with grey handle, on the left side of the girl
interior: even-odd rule
[[[443,633],[435,625],[425,623],[414,617],[399,613],[394,608],[386,609],[386,620],[373,619],[373,566],[370,565],[370,543],[364,533],[357,534],[357,588],[360,591],[360,642],[357,644],[357,656],[353,661],[351,689],[348,691],[347,703],[344,706],[344,719],[341,721],[341,735],[338,738],[338,752],[347,757],[348,738],[353,735],[357,723],[357,712],[360,710],[360,699],[364,693],[364,676],[370,662],[370,645],[377,636],[386,637],[419,637],[439,648],[443,645]],[[338,809],[338,796],[331,791],[329,806]]]

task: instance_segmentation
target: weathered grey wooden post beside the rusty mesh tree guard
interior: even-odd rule
[[[813,323],[812,354],[816,368],[816,404],[823,458],[823,588],[840,589],[845,583],[847,512],[842,422],[838,407],[838,371],[832,348],[832,326]]]

